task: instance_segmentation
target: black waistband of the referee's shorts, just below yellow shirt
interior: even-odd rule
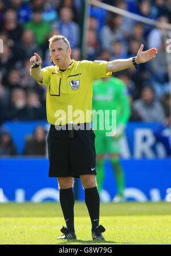
[[[56,131],[71,131],[74,129],[75,131],[78,130],[91,130],[91,124],[90,123],[82,123],[82,124],[65,124],[65,125],[54,125],[51,124],[50,128],[56,129]]]

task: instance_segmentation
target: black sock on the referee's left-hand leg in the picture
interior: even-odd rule
[[[60,206],[63,211],[66,225],[70,231],[74,231],[74,191],[71,188],[60,188],[59,190]]]

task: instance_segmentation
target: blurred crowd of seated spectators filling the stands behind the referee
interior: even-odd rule
[[[101,1],[163,23],[171,23],[171,0]],[[62,34],[70,41],[72,58],[81,60],[82,0],[0,0],[0,124],[6,120],[46,120],[46,86],[30,77],[30,57],[52,65],[48,38]],[[117,72],[128,87],[131,121],[163,121],[170,116],[171,98],[166,38],[163,29],[91,5],[87,60],[115,60],[157,48],[150,62]],[[171,38],[171,31],[168,31]],[[14,149],[13,149],[14,152]]]

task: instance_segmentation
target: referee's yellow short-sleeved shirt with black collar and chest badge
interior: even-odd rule
[[[58,66],[41,69],[47,86],[46,111],[50,124],[91,123],[93,80],[111,76],[106,73],[107,61],[75,61],[65,71]]]

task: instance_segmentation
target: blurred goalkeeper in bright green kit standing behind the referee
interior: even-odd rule
[[[96,135],[96,179],[100,194],[104,180],[104,159],[105,154],[108,153],[117,184],[117,193],[113,198],[113,202],[124,202],[125,178],[124,170],[120,163],[120,139],[124,135],[131,113],[127,86],[116,77],[105,77],[96,80],[93,83],[92,109],[96,112],[103,111],[104,117],[102,117],[103,120],[101,121],[105,122],[108,119],[110,123],[112,110],[116,111],[116,132],[114,136],[106,136],[105,125],[104,129],[99,128],[100,119],[93,119],[92,122],[92,127],[97,127],[97,129],[94,129]],[[109,113],[107,117],[105,117],[105,111]]]

